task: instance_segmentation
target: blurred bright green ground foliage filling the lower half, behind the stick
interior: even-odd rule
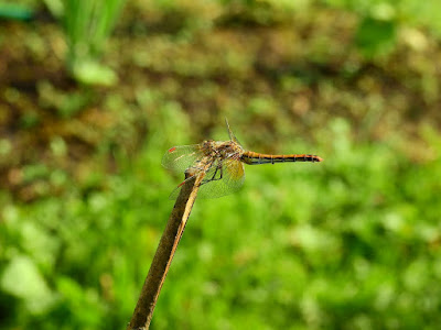
[[[23,327],[128,321],[179,182],[160,167],[161,141],[186,124],[164,111],[107,189],[3,208],[1,290]],[[352,133],[337,119],[319,132],[324,163],[247,166],[241,191],[197,200],[153,329],[435,329],[440,151],[418,164],[399,140],[355,144]],[[441,138],[424,134],[435,147]]]

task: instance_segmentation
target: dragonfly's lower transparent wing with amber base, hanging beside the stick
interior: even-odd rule
[[[236,158],[225,161],[216,160],[205,174],[197,198],[217,198],[233,194],[244,185],[245,172],[244,164]],[[181,185],[170,195],[170,199],[176,199]]]

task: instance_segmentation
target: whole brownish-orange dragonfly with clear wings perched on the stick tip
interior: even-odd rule
[[[225,119],[229,141],[206,140],[200,144],[173,146],[162,157],[162,166],[175,173],[185,172],[187,178],[170,195],[176,199],[181,187],[193,175],[203,175],[198,198],[217,198],[240,189],[245,180],[244,164],[260,165],[294,162],[322,162],[316,155],[270,155],[245,151]]]

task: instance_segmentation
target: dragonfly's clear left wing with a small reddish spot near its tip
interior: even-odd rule
[[[162,166],[183,174],[185,169],[193,166],[202,157],[203,153],[200,144],[173,146],[162,157]]]

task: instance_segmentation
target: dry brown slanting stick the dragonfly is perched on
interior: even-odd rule
[[[204,174],[192,176],[182,186],[127,330],[149,329],[161,287],[184,232],[186,220],[190,217],[203,178]]]

